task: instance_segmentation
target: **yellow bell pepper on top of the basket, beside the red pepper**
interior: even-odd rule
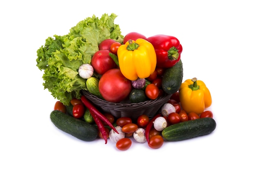
[[[117,50],[121,73],[129,80],[147,78],[155,71],[157,57],[153,45],[144,39],[129,40]]]

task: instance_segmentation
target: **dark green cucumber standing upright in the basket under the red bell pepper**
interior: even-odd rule
[[[183,66],[180,60],[174,66],[167,68],[164,71],[162,78],[162,89],[167,94],[177,92],[182,84],[183,79]]]

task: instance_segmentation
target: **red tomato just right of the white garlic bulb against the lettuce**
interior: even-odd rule
[[[94,71],[103,75],[106,71],[116,68],[117,64],[109,55],[110,51],[108,50],[99,50],[92,56],[92,67]]]

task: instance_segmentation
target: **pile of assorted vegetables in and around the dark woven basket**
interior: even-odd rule
[[[137,143],[160,148],[164,141],[184,140],[211,133],[216,122],[211,94],[196,78],[182,83],[182,45],[170,35],[121,35],[117,17],[86,18],[67,35],[47,38],[37,50],[44,70],[43,86],[58,101],[53,124],[84,141],[102,138],[127,150]],[[114,103],[140,103],[172,94],[153,118],[114,117],[94,106],[81,91]],[[65,123],[64,123],[65,122]],[[96,127],[96,131],[95,131]],[[79,131],[80,130],[80,131]],[[78,132],[79,131],[79,132]]]

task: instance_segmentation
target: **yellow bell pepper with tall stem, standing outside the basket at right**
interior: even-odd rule
[[[211,93],[204,82],[197,78],[187,79],[179,89],[180,104],[186,113],[195,112],[200,115],[205,108],[211,106]]]

